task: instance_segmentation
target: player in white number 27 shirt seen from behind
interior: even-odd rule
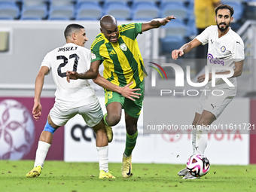
[[[114,178],[108,172],[108,139],[105,133],[102,108],[95,92],[87,79],[70,83],[66,81],[67,70],[84,73],[90,69],[91,53],[84,47],[85,42],[88,41],[85,29],[78,24],[71,24],[66,27],[64,35],[66,44],[47,53],[41,62],[41,68],[35,80],[35,99],[32,110],[35,120],[41,116],[41,90],[44,76],[48,75],[50,71],[56,84],[56,99],[38,142],[34,168],[26,174],[26,177],[38,177],[41,174],[53,133],[76,114],[81,114],[87,125],[91,126],[96,133],[99,178]]]

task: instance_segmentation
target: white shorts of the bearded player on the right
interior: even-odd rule
[[[217,119],[234,97],[233,95],[230,96],[228,90],[222,90],[224,91],[222,96],[214,96],[212,91],[203,92],[198,101],[196,112],[202,114],[204,110],[209,111]]]

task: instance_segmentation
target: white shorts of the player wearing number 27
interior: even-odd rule
[[[50,109],[50,118],[57,126],[65,125],[68,120],[74,117],[76,114],[81,114],[84,118],[85,123],[88,126],[93,127],[102,120],[103,113],[102,108],[99,105],[99,100],[91,103],[90,105],[84,105],[78,108],[70,108],[69,110],[62,109],[60,105],[54,104],[53,108]]]

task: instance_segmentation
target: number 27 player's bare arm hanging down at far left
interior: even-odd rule
[[[34,98],[34,106],[32,109],[32,114],[35,120],[38,120],[41,117],[41,90],[44,85],[44,75],[47,75],[49,72],[49,68],[47,66],[42,66],[38,72],[38,76],[35,79],[35,98]]]

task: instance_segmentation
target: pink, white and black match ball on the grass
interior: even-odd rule
[[[203,154],[194,154],[187,160],[187,171],[195,177],[203,177],[209,169],[210,162]]]

